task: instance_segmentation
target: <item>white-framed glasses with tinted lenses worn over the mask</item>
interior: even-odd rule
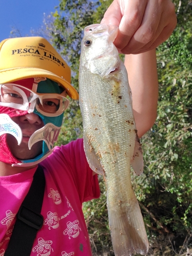
[[[15,83],[0,84],[0,106],[8,106],[33,113],[34,108],[45,116],[59,116],[69,106],[65,91],[57,93],[34,93]]]

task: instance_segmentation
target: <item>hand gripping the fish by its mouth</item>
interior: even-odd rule
[[[114,0],[101,23],[119,27],[114,44],[120,53],[138,54],[164,42],[177,17],[171,0]]]

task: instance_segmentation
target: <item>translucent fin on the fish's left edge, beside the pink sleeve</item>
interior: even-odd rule
[[[101,166],[99,157],[96,155],[95,150],[90,142],[88,142],[87,136],[83,136],[84,151],[90,168],[97,174],[104,175],[104,170]]]

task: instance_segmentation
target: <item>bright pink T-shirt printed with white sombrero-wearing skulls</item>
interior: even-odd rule
[[[37,232],[31,255],[91,255],[88,231],[82,214],[84,201],[100,195],[97,175],[92,175],[82,139],[55,147],[41,163],[46,187],[41,214],[44,224]],[[15,216],[28,193],[36,168],[0,177],[0,255],[8,246]]]

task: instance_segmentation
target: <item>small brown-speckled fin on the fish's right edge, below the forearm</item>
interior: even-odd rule
[[[131,159],[131,165],[134,169],[136,175],[141,175],[143,173],[143,153],[141,149],[141,143],[139,141],[138,136],[135,141],[135,149],[133,153],[133,157]]]

